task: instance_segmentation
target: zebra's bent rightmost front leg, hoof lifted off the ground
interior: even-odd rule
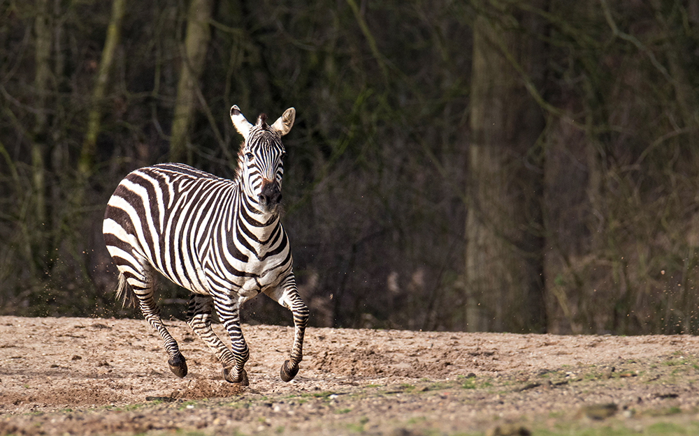
[[[303,333],[308,323],[308,307],[298,295],[294,273],[290,273],[278,287],[265,291],[265,294],[291,310],[294,315],[294,345],[291,347],[289,360],[284,361],[279,374],[284,382],[291,382],[298,373],[298,363],[303,359]]]

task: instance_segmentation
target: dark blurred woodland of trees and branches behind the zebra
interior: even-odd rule
[[[237,104],[296,107],[311,325],[696,334],[698,55],[699,0],[0,0],[0,314],[140,317],[106,202],[232,176]]]

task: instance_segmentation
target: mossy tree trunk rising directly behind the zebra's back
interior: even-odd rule
[[[196,105],[197,82],[211,37],[208,21],[211,19],[212,7],[212,0],[192,0],[189,4],[187,34],[170,138],[170,160],[173,162],[192,162],[192,150],[187,149],[189,124]]]

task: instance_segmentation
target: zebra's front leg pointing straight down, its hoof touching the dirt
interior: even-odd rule
[[[233,299],[231,296],[221,295],[213,298],[214,308],[229,336],[231,336],[231,352],[233,361],[223,363],[223,377],[226,382],[240,383],[243,386],[250,384],[247,379],[245,362],[250,359],[250,349],[247,348],[243,330],[240,329],[240,304],[247,298]]]

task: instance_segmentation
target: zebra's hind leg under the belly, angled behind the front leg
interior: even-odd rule
[[[221,338],[211,329],[211,311],[213,310],[213,299],[209,295],[192,294],[189,298],[189,310],[187,310],[187,324],[189,328],[208,345],[216,358],[223,365],[223,377],[226,382],[236,383],[231,375],[231,368],[236,364],[231,350],[224,345]],[[243,386],[248,386],[247,372],[243,370],[243,375],[238,381]]]

